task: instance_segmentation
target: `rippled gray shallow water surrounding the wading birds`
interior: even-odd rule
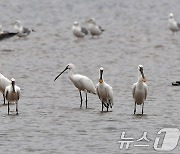
[[[14,77],[22,91],[18,116],[15,106],[10,115],[7,106],[0,107],[0,153],[152,154],[158,153],[153,144],[160,129],[180,127],[180,87],[171,86],[180,80],[180,34],[173,36],[167,27],[170,12],[180,21],[179,0],[1,0],[0,10],[4,30],[13,31],[17,19],[36,30],[26,39],[0,42],[0,72]],[[75,40],[73,22],[89,17],[105,32]],[[114,90],[112,112],[102,113],[91,94],[88,109],[85,103],[80,109],[79,92],[67,73],[53,81],[68,63],[94,84],[104,67]],[[131,93],[139,64],[149,89],[143,116],[133,115]],[[134,140],[148,132],[149,147],[120,149],[122,132]],[[178,144],[167,153],[179,150]]]

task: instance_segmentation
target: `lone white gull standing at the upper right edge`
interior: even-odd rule
[[[180,30],[180,23],[174,20],[173,13],[169,14],[169,29],[173,32],[173,35]]]

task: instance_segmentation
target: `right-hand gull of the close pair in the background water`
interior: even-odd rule
[[[89,24],[89,31],[90,31],[92,37],[99,36],[104,31],[104,29],[102,29],[101,26],[96,25],[96,20],[94,18],[90,18],[90,19],[86,20],[86,22]]]

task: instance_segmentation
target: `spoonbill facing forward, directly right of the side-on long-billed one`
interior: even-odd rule
[[[100,68],[100,78],[99,78],[99,83],[96,86],[96,92],[99,96],[99,99],[102,102],[102,111],[103,111],[103,107],[105,106],[108,108],[113,106],[113,89],[112,87],[107,84],[104,80],[103,80],[103,67]]]

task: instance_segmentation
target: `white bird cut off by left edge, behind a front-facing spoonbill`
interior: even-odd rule
[[[10,84],[11,84],[11,81],[0,73],[0,92],[3,94],[4,104],[5,104],[4,92],[5,92],[6,87],[9,86]]]

